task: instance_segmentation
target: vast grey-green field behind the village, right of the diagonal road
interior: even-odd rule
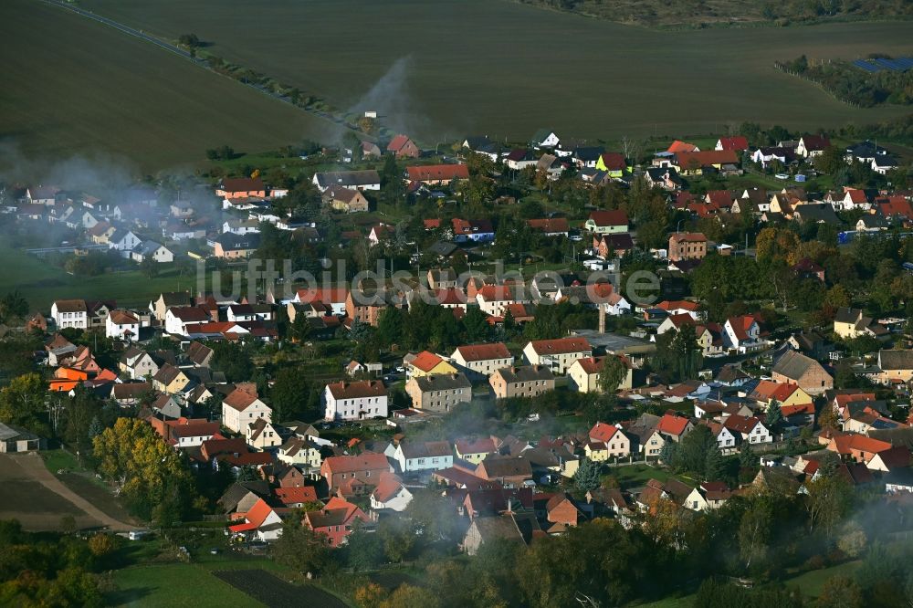
[[[543,126],[603,139],[745,120],[811,130],[908,111],[855,109],[773,68],[802,54],[909,53],[908,22],[651,31],[484,0],[81,5],[160,37],[193,32],[215,55],[338,108],[378,110],[427,145],[466,133],[524,138]],[[341,32],[352,42],[341,44]]]

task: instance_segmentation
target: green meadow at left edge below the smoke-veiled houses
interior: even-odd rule
[[[117,299],[122,306],[145,306],[163,291],[194,288],[195,280],[181,277],[174,269],[155,278],[146,278],[139,270],[75,277],[63,268],[6,246],[0,246],[0,261],[0,294],[18,289],[31,310],[50,310],[55,299],[63,298]]]

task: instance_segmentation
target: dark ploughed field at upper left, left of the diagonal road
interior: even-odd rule
[[[225,143],[275,148],[330,129],[329,122],[60,8],[5,0],[0,36],[7,51],[0,142],[29,156],[104,152],[151,171],[202,161],[206,148]]]

